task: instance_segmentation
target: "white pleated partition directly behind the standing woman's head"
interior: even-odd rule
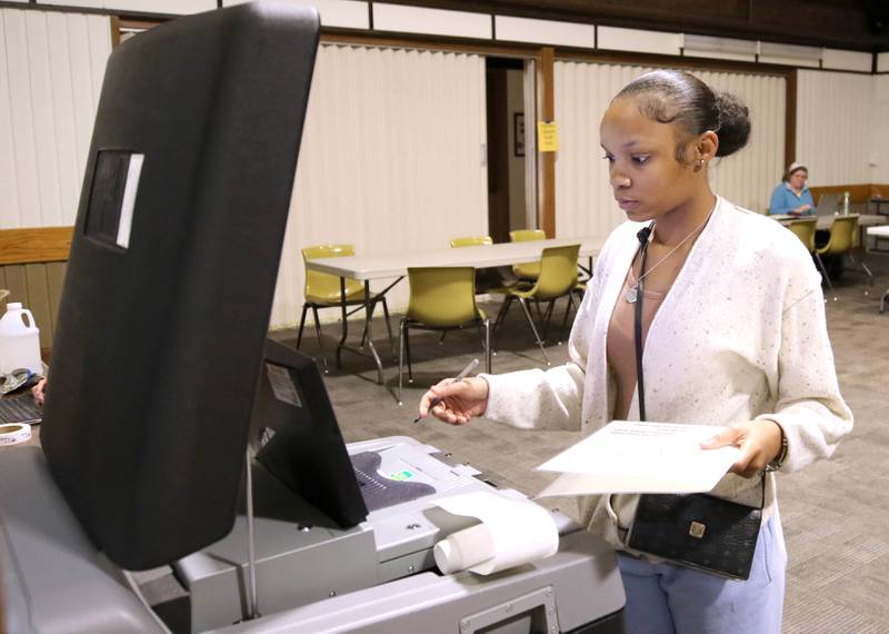
[[[556,121],[560,150],[556,160],[556,234],[606,237],[625,215],[608,184],[599,146],[599,121],[615,95],[651,70],[638,66],[558,61]],[[783,78],[726,72],[695,72],[717,90],[736,93],[750,109],[748,146],[711,165],[713,191],[743,207],[762,210],[780,180],[785,147]]]

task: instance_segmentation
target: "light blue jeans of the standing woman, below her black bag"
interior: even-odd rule
[[[629,634],[780,634],[787,551],[775,515],[746,582],[618,553]]]

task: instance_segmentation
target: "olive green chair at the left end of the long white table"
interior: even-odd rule
[[[312,247],[306,247],[302,249],[302,261],[307,262],[309,260],[321,259],[321,258],[337,258],[337,257],[346,257],[346,256],[353,256],[354,255],[354,246],[353,245],[316,245]],[[314,318],[314,333],[318,337],[318,348],[322,349],[321,346],[321,323],[318,320],[318,309],[319,308],[342,308],[343,301],[342,296],[340,294],[340,278],[336,275],[329,275],[326,273],[320,273],[317,270],[311,270],[309,268],[306,269],[306,287],[303,295],[306,297],[304,303],[302,304],[302,317],[299,320],[299,334],[297,335],[297,349],[299,349],[300,345],[302,344],[302,328],[306,325],[306,314],[308,313],[309,308],[312,310],[312,317]],[[377,304],[382,304],[382,311],[386,316],[386,329],[389,331],[389,345],[392,348],[392,354],[394,354],[394,341],[392,339],[392,326],[389,321],[389,307],[386,304],[386,297],[382,295],[371,294],[370,297],[371,301],[371,317],[373,316],[373,310],[377,309]],[[364,305],[364,285],[357,279],[346,279],[346,306],[354,306],[349,313],[351,315],[356,310],[360,310],[361,307]],[[361,337],[361,344],[363,345],[364,338],[367,337],[367,323],[364,324],[364,334]],[[327,359],[321,357],[327,367]]]

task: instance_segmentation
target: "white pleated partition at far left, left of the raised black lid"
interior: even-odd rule
[[[106,16],[0,9],[0,229],[74,224],[110,52]]]

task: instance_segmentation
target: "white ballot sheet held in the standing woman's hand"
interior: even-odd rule
[[[538,497],[610,493],[705,493],[740,456],[702,449],[725,427],[615,420],[539,467],[560,472]]]

